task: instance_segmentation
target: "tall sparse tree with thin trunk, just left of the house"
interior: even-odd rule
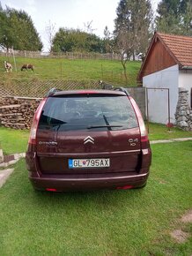
[[[114,20],[114,39],[122,55],[122,67],[126,82],[126,62],[129,56],[144,53],[151,37],[152,11],[150,0],[121,0]]]

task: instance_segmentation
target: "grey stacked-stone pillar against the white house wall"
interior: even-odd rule
[[[188,90],[179,88],[175,113],[176,125],[184,131],[192,131],[192,109],[188,106]]]

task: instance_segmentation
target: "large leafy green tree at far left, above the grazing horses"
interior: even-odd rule
[[[41,50],[42,42],[26,11],[0,10],[0,44],[8,49]]]

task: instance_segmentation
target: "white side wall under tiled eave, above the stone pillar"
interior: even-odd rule
[[[188,105],[191,104],[192,70],[180,70],[179,87],[188,90]]]

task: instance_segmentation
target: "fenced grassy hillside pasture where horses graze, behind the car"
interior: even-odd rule
[[[4,60],[13,66],[11,73],[4,72]],[[7,80],[100,80],[115,85],[125,86],[122,64],[120,61],[112,60],[79,60],[62,58],[24,58],[16,57],[17,72],[15,71],[12,57],[0,56],[0,79]],[[21,72],[23,64],[33,64],[34,72]],[[131,61],[127,63],[127,73],[129,84],[127,86],[137,86],[137,73],[141,62]]]

